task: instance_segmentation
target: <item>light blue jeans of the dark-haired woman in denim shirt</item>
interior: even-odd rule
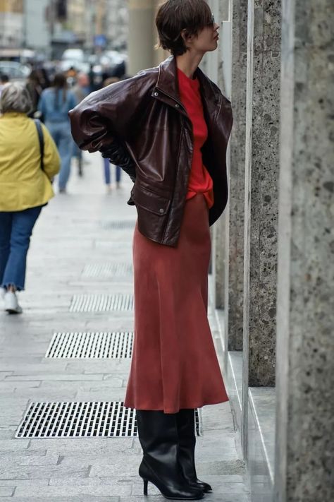
[[[73,155],[73,139],[70,134],[70,123],[66,122],[45,122],[47,129],[54,138],[54,143],[61,156],[61,172],[59,173],[58,185],[60,190],[66,189],[68,178],[70,177],[70,159]]]

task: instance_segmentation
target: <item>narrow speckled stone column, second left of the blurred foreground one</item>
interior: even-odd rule
[[[247,68],[247,0],[233,0],[232,17],[232,86],[233,131],[230,138],[228,242],[225,263],[225,313],[228,349],[242,349],[243,330],[243,261],[245,210],[245,132]]]

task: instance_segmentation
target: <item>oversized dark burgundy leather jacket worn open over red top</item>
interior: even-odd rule
[[[212,225],[228,199],[226,148],[233,119],[230,102],[218,87],[199,68],[196,76],[209,131],[202,154],[214,181]],[[78,146],[101,151],[135,181],[128,203],[136,205],[140,232],[160,244],[177,246],[193,137],[180,101],[175,58],[92,92],[69,115]]]

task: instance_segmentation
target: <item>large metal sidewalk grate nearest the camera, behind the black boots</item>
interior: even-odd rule
[[[196,410],[196,434],[202,419]],[[123,402],[32,402],[16,431],[16,438],[82,438],[137,436],[135,410]]]

